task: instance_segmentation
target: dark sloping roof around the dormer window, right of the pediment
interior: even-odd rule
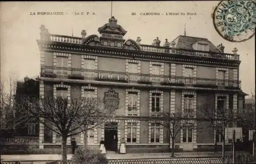
[[[190,37],[190,36],[184,36],[180,35],[176,39],[176,48],[181,49],[191,49],[194,50],[192,45],[197,41],[206,41],[209,43],[209,50],[212,52],[221,52],[214,44],[212,44],[208,39],[206,38],[198,38],[198,37]]]

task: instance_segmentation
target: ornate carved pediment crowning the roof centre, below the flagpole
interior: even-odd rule
[[[101,28],[98,29],[98,32],[107,33],[107,34],[118,34],[124,36],[127,31],[125,31],[121,25],[117,24],[115,17],[109,19],[109,23],[104,24]]]

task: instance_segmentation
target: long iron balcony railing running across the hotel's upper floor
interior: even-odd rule
[[[79,68],[63,68],[42,66],[41,77],[57,77],[70,79],[88,79],[97,81],[114,81],[122,83],[160,84],[163,86],[194,86],[206,88],[240,88],[241,81],[212,78],[163,76],[152,74],[126,73]]]

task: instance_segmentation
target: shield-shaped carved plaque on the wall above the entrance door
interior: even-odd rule
[[[119,106],[119,97],[118,93],[116,93],[112,88],[108,90],[108,92],[104,93],[103,102],[105,104],[105,107],[115,108],[117,109]]]

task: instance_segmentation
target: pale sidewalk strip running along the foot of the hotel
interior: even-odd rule
[[[227,152],[226,152],[227,153]],[[227,153],[228,154],[228,153]],[[221,156],[221,152],[180,152],[175,153],[175,157],[217,157]],[[72,154],[67,155],[67,159],[71,159]],[[129,158],[168,158],[171,157],[171,153],[127,153],[127,154],[116,154],[113,152],[106,152],[108,159],[129,159]],[[39,160],[60,160],[61,155],[59,154],[30,154],[30,155],[1,155],[2,161],[39,161]]]

